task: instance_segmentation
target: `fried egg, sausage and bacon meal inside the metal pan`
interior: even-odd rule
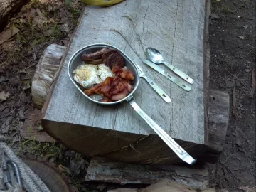
[[[127,70],[124,58],[114,48],[102,48],[95,53],[82,53],[84,65],[73,72],[76,82],[86,95],[102,95],[101,102],[122,100],[132,92],[134,75]]]

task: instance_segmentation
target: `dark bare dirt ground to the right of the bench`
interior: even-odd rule
[[[212,1],[209,30],[210,87],[230,94],[225,149],[218,164],[210,165],[210,185],[240,191],[239,186],[255,186],[256,176],[255,92],[250,97],[255,1]]]

